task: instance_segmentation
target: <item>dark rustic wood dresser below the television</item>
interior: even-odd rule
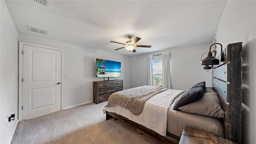
[[[123,90],[123,80],[94,81],[93,102],[95,104],[105,102],[114,92]]]

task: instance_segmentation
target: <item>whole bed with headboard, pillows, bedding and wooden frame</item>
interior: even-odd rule
[[[223,52],[224,62],[221,62],[220,65],[215,66],[212,70],[212,87],[204,88],[201,86],[202,88],[200,89],[200,86],[195,84],[196,86],[192,86],[187,92],[160,90],[154,96],[147,98],[148,100],[144,103],[140,112],[135,108],[130,108],[130,105],[133,105],[130,104],[130,101],[121,102],[123,105],[118,106],[114,103],[111,105],[111,103],[115,100],[118,103],[120,98],[109,99],[108,105],[104,108],[106,120],[113,117],[142,134],[164,143],[178,143],[179,136],[186,125],[241,143],[242,42],[228,44]],[[202,83],[199,82],[198,84]],[[146,89],[146,87],[143,88]],[[201,92],[202,96],[194,100],[194,102],[179,106],[181,104],[180,100],[184,98],[184,95],[195,88]],[[133,88],[131,91],[136,91],[137,89],[139,88]],[[130,94],[131,91],[124,90],[119,94]],[[145,91],[151,94],[149,90]],[[174,95],[166,96],[169,93],[174,93]],[[216,98],[214,97],[215,95]],[[216,112],[213,112],[213,109],[208,110],[208,108],[202,106],[202,103],[205,103],[203,100],[209,101],[208,98],[210,98],[210,101],[212,101],[211,98],[214,98],[218,103],[220,108],[215,110]],[[160,102],[156,102],[159,99]],[[163,107],[165,110],[156,108],[154,102],[158,103],[156,106]],[[126,104],[125,106],[124,103]],[[177,105],[179,106],[178,109]],[[205,110],[195,112],[196,106]],[[127,109],[128,107],[134,111],[131,112]],[[148,119],[149,121],[145,122]],[[156,121],[157,124],[154,123]]]

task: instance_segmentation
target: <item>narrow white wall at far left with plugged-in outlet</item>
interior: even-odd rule
[[[18,124],[18,32],[4,0],[1,3],[0,110],[1,144],[10,143]],[[7,116],[15,114],[7,126]]]

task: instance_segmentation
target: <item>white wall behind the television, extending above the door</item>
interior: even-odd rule
[[[64,108],[92,101],[92,82],[103,80],[103,78],[96,78],[95,76],[96,58],[121,62],[121,77],[110,78],[110,80],[122,79],[124,80],[124,89],[130,88],[128,56],[20,32],[18,33],[18,40],[64,49]],[[66,79],[66,74],[69,74],[71,78]]]

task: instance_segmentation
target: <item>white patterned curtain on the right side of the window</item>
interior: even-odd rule
[[[170,53],[162,54],[162,86],[171,89]]]

